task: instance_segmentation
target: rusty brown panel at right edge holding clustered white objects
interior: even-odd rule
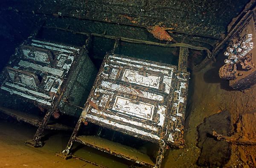
[[[219,70],[219,76],[230,80],[230,86],[244,90],[256,84],[256,12],[240,25],[239,31],[230,38],[230,45],[224,52],[226,63]]]

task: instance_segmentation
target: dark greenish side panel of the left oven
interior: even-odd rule
[[[98,71],[85,50],[81,53],[77,64],[70,76],[58,109],[64,114],[79,118]]]

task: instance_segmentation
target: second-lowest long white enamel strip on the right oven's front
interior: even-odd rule
[[[135,126],[140,126],[140,127],[145,128],[145,129],[149,129],[149,130],[152,130],[152,131],[157,131],[157,128],[154,127],[154,126],[149,126],[149,125],[144,124],[144,123],[140,123],[140,122],[133,121],[133,120],[128,120],[126,118],[119,117],[118,115],[111,115],[111,114],[108,114],[108,113],[105,113],[105,112],[102,112],[102,111],[99,111],[99,110],[96,110],[96,109],[91,109],[91,112],[94,112],[96,114],[100,114],[100,115],[103,115],[103,116],[106,116],[106,117],[109,117],[109,118],[113,118],[115,120],[120,120],[120,121],[125,122],[125,123],[130,123],[130,124],[133,124]]]

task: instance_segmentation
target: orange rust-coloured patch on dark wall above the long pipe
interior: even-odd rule
[[[148,27],[148,31],[153,34],[153,36],[160,40],[172,41],[173,38],[166,32],[166,30],[172,30],[173,28],[163,28],[158,25],[153,27]]]

